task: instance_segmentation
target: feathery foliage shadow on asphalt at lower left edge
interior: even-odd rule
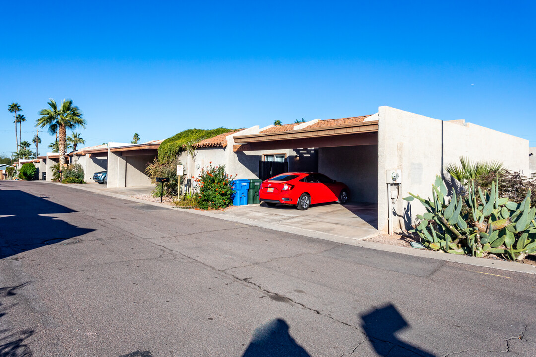
[[[33,330],[26,329],[10,333],[9,329],[4,328],[6,322],[2,318],[8,314],[8,310],[16,306],[8,305],[6,298],[17,295],[17,290],[24,287],[27,282],[17,286],[0,287],[0,356],[1,357],[31,357],[33,352],[26,344],[26,339],[34,334]]]

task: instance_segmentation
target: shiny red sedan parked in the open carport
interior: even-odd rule
[[[336,201],[344,204],[349,198],[348,186],[318,172],[281,173],[263,181],[259,189],[259,201],[270,207],[282,203],[306,210],[311,204]]]

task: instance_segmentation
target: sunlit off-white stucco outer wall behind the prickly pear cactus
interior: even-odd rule
[[[418,201],[401,198],[408,192],[429,197],[436,174],[464,155],[498,160],[505,168],[528,173],[528,141],[461,121],[441,121],[415,113],[379,107],[378,111],[378,229],[388,227],[385,170],[401,169],[400,197],[393,206],[393,228],[406,227],[424,211]],[[411,216],[411,218],[410,218]]]

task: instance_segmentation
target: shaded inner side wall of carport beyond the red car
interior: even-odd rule
[[[376,203],[378,146],[362,145],[318,149],[318,171],[345,183],[350,200]]]

